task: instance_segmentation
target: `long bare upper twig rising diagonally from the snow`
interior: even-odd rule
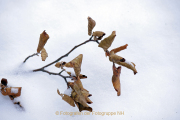
[[[76,48],[78,48],[78,47],[81,46],[81,45],[84,45],[84,44],[86,44],[86,43],[88,43],[88,42],[91,42],[91,41],[96,42],[96,40],[91,40],[92,37],[93,37],[93,36],[91,36],[91,37],[89,38],[89,40],[86,40],[85,42],[83,42],[83,43],[81,43],[81,44],[79,44],[79,45],[74,46],[68,53],[66,53],[65,55],[61,56],[61,57],[58,58],[57,60],[49,63],[48,65],[46,65],[46,66],[44,66],[44,67],[42,67],[42,68],[35,69],[35,70],[33,70],[33,72],[37,72],[37,71],[42,71],[42,70],[44,70],[44,68],[46,68],[46,67],[48,67],[48,66],[50,66],[50,65],[52,65],[52,64],[54,64],[54,63],[56,63],[56,62],[58,62],[58,61],[60,61],[60,60],[61,60],[62,58],[64,58],[64,57],[67,57],[73,50],[75,50]]]

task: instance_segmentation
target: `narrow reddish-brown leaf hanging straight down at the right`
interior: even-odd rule
[[[114,89],[117,91],[117,96],[121,95],[120,73],[121,73],[121,66],[116,68],[115,64],[113,63],[112,84],[114,86]]]

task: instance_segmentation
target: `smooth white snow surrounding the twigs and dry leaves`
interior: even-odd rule
[[[116,31],[110,50],[128,44],[118,55],[136,64],[136,75],[121,71],[120,97],[115,92],[112,63],[95,42],[87,43],[68,57],[83,54],[81,73],[84,88],[92,94],[95,112],[124,111],[124,115],[56,115],[56,111],[76,112],[57,94],[66,90],[64,79],[32,72],[89,39],[87,17],[96,21],[93,31],[109,36]],[[48,58],[34,56],[39,35],[49,34],[45,48]],[[59,119],[180,119],[180,1],[178,0],[0,0],[0,79],[22,87],[25,111],[18,111],[8,96],[0,94],[0,120]],[[54,65],[49,71],[59,72]],[[64,73],[64,75],[66,75]]]

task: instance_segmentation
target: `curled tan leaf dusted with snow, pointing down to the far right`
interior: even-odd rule
[[[110,56],[109,56],[109,60],[112,62],[112,60],[117,63],[118,65],[122,65],[124,67],[127,67],[129,69],[131,69],[134,74],[137,73],[137,70],[135,68],[135,64],[133,62],[128,62],[127,60],[125,60],[123,57],[120,57],[116,54],[114,54],[114,52],[111,52]],[[124,62],[122,62],[122,60],[124,60]]]

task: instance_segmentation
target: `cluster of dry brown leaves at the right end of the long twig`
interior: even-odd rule
[[[95,27],[95,25],[96,25],[96,22],[91,17],[88,17],[88,35],[92,34],[92,29]],[[102,37],[105,35],[105,33],[102,31],[95,31],[93,32],[92,35],[94,36],[94,40],[101,40]],[[120,96],[121,95],[121,85],[120,85],[121,66],[131,69],[134,72],[134,75],[137,73],[137,70],[135,68],[136,65],[133,62],[128,62],[125,58],[116,54],[120,52],[121,50],[126,49],[128,44],[112,49],[110,52],[108,51],[108,48],[113,43],[115,37],[116,37],[116,31],[113,31],[111,35],[104,38],[99,43],[98,47],[101,47],[105,51],[106,56],[109,57],[109,61],[113,62],[112,84],[114,86],[114,89],[117,91],[117,95]],[[114,63],[121,66],[116,68]]]

